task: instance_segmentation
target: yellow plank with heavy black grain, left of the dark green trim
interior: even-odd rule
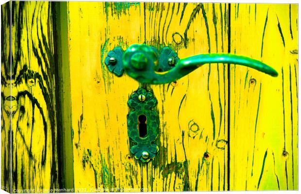
[[[1,13],[4,9],[2,7]],[[7,153],[11,152],[11,192],[41,193],[43,189],[49,192],[58,188],[51,6],[46,1],[13,1],[11,10],[12,47],[6,45],[1,52],[1,118],[12,113],[12,131],[9,122],[1,126],[2,153],[5,155],[1,157],[4,164],[1,170],[7,170]],[[2,20],[3,23],[7,21]],[[8,40],[10,27],[4,27],[2,32]],[[12,101],[6,98],[9,96]],[[10,102],[12,109],[6,106]],[[3,146],[8,145],[9,137],[11,149]]]

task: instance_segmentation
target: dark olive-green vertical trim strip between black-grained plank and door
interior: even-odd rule
[[[60,189],[74,188],[67,2],[52,2]]]

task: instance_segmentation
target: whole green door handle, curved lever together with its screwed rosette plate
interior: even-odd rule
[[[215,53],[199,54],[179,60],[174,51],[166,48],[163,53],[161,51],[159,54],[155,48],[144,44],[131,45],[124,52],[120,47],[117,47],[108,53],[105,64],[117,76],[121,76],[124,69],[135,80],[150,84],[176,81],[202,65],[217,63],[244,65],[273,77],[278,76],[277,71],[272,67],[249,57]],[[164,72],[158,72],[156,71],[158,70],[157,66],[162,66],[162,61],[165,61],[171,68]]]

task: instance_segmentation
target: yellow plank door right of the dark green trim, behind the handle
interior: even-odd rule
[[[297,5],[70,2],[68,21],[75,188],[298,188]],[[136,43],[170,46],[180,58],[246,55],[280,76],[219,64],[151,85],[160,152],[144,164],[129,155],[126,132],[126,101],[138,83],[103,65],[109,50]]]

